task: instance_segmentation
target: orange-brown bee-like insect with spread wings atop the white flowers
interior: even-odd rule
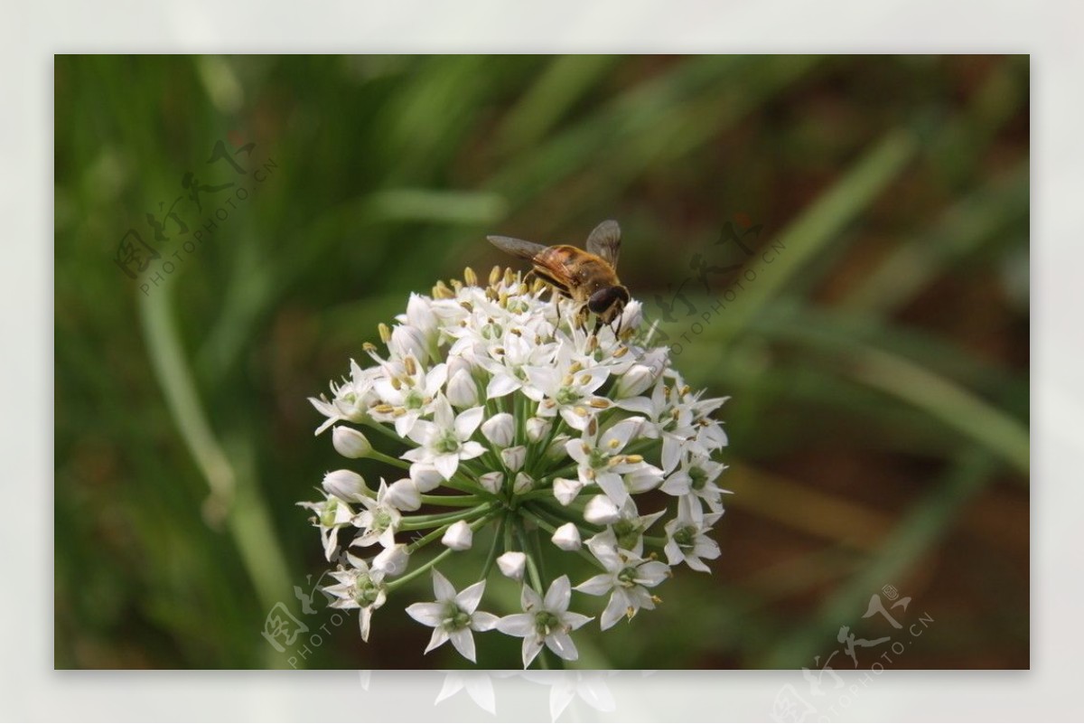
[[[588,248],[568,244],[544,246],[511,236],[487,236],[495,247],[513,256],[528,259],[532,274],[545,282],[554,295],[580,305],[578,322],[585,326],[588,312],[595,314],[594,334],[603,324],[612,324],[629,303],[629,289],[617,277],[617,259],[621,251],[621,227],[617,221],[603,221],[588,236]]]

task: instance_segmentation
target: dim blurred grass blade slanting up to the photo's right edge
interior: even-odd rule
[[[1008,224],[1027,219],[1029,161],[952,206],[932,227],[896,247],[839,305],[888,313],[913,299],[945,268],[972,254]]]

